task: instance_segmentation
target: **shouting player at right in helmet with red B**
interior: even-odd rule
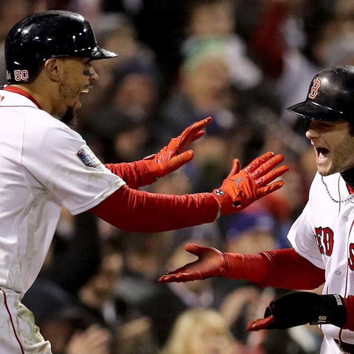
[[[322,70],[304,102],[289,107],[304,119],[318,172],[302,214],[292,225],[291,249],[258,255],[225,253],[187,244],[199,259],[160,277],[161,282],[211,276],[248,279],[259,286],[310,290],[275,299],[247,330],[318,324],[321,354],[354,353],[354,67]]]

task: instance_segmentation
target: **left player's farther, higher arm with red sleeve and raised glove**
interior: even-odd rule
[[[138,189],[155,182],[158,178],[176,171],[193,158],[193,150],[188,145],[205,135],[203,130],[211,123],[211,117],[195,122],[176,138],[164,146],[157,154],[134,162],[106,164],[113,173],[120,176],[130,188]]]

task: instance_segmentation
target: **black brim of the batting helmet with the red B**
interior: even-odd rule
[[[348,120],[348,117],[343,112],[339,112],[313,101],[297,103],[286,108],[286,110],[312,120],[324,120],[329,122]]]

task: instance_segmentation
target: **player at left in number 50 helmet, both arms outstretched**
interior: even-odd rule
[[[47,11],[17,23],[5,42],[7,85],[0,90],[0,353],[51,353],[21,304],[44,262],[62,206],[90,210],[118,228],[160,232],[214,221],[276,189],[286,166],[265,153],[240,171],[234,160],[212,193],[162,195],[140,186],[193,157],[203,119],[143,160],[103,165],[70,129],[97,74],[91,62],[116,54],[97,45],[91,25],[72,12]],[[269,184],[268,184],[269,183]]]

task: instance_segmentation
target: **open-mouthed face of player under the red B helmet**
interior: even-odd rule
[[[316,154],[317,170],[322,176],[354,167],[354,136],[347,121],[312,120],[306,137]]]

